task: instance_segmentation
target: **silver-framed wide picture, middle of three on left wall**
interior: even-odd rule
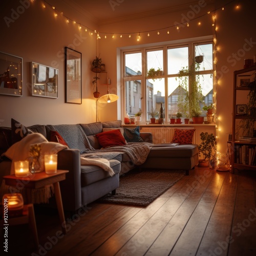
[[[58,98],[59,71],[52,67],[31,62],[32,86],[31,95],[47,98]]]

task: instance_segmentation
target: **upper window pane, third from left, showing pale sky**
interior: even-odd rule
[[[188,48],[174,48],[167,50],[168,75],[177,74],[182,68],[188,67]]]

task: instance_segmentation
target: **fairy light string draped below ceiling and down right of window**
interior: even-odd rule
[[[35,2],[36,0],[31,0],[31,2]],[[163,28],[159,28],[159,29],[152,29],[152,30],[145,30],[145,31],[135,31],[135,32],[101,32],[101,31],[97,31],[95,29],[92,29],[86,25],[83,25],[80,22],[77,22],[74,18],[68,17],[65,13],[63,13],[61,10],[59,10],[58,8],[56,8],[56,6],[51,5],[50,3],[48,3],[46,0],[40,0],[42,2],[42,8],[47,8],[47,6],[49,7],[49,9],[51,11],[53,11],[53,15],[55,17],[58,17],[59,15],[62,16],[65,20],[67,24],[74,24],[77,25],[78,30],[83,30],[84,32],[88,32],[91,36],[96,35],[96,39],[101,39],[102,37],[104,39],[106,38],[122,38],[124,36],[128,37],[128,38],[136,38],[137,41],[141,40],[142,36],[146,36],[146,37],[150,37],[151,35],[160,35],[160,34],[166,34],[167,36],[170,35],[171,30],[180,30],[180,28],[184,28],[190,27],[190,24],[196,20],[197,21],[197,26],[200,27],[202,25],[201,19],[204,16],[209,15],[211,17],[210,19],[210,24],[211,27],[214,29],[214,64],[215,64],[215,71],[214,71],[214,76],[215,76],[215,83],[214,83],[214,95],[213,95],[213,105],[214,105],[214,118],[216,121],[216,139],[218,141],[219,138],[219,132],[221,132],[221,127],[219,125],[219,121],[221,120],[220,116],[216,115],[216,106],[217,106],[217,88],[218,88],[218,84],[219,84],[219,80],[217,79],[217,53],[218,53],[218,46],[217,46],[217,31],[218,31],[218,26],[217,26],[217,22],[216,22],[216,12],[217,11],[224,11],[225,7],[232,4],[233,2],[237,2],[235,8],[239,9],[240,8],[240,1],[236,1],[236,0],[230,0],[228,3],[224,4],[222,7],[217,8],[215,10],[209,10],[206,13],[203,13],[200,16],[197,16],[195,18],[191,18],[189,19],[189,22],[182,22],[179,24],[175,24],[175,25],[170,25],[170,26],[166,26]],[[193,26],[192,26],[193,27]],[[220,161],[220,160],[219,160]]]

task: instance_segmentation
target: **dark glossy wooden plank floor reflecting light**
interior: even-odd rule
[[[255,202],[256,178],[252,172],[231,174],[196,167],[147,207],[88,205],[68,220],[65,236],[56,211],[35,207],[40,249],[33,249],[28,226],[22,225],[9,227],[9,252],[256,255]]]

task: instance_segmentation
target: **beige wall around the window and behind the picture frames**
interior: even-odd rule
[[[92,78],[90,63],[96,54],[95,34],[90,36],[84,30],[79,32],[77,25],[66,24],[65,18],[59,15],[53,16],[50,8],[43,9],[40,1],[35,1],[24,13],[10,24],[8,28],[3,17],[11,15],[11,9],[17,10],[19,1],[5,1],[6,6],[0,10],[0,26],[2,36],[0,51],[23,57],[23,96],[13,97],[0,95],[0,119],[1,125],[10,126],[10,119],[14,118],[25,125],[35,123],[79,123],[94,122],[95,119],[95,99],[93,98]],[[7,3],[8,2],[8,3]],[[11,3],[9,3],[11,2]],[[100,53],[102,62],[105,63],[109,78],[111,79],[110,91],[120,95],[122,83],[119,79],[119,56],[118,52],[122,47],[152,44],[154,42],[167,42],[190,37],[200,37],[213,35],[214,29],[210,26],[210,15],[200,18],[201,26],[197,25],[199,19],[189,22],[189,27],[177,29],[172,27],[167,30],[160,30],[160,35],[156,31],[150,32],[150,37],[141,33],[141,39],[137,42],[137,32],[157,30],[168,26],[173,26],[175,22],[184,21],[184,17],[198,12],[198,16],[205,14],[208,10],[222,7],[223,1],[215,1],[215,6],[199,1],[197,7],[176,11],[169,14],[162,14],[152,17],[141,17],[131,19],[129,22],[117,22],[109,25],[101,25],[99,28],[86,17],[81,17],[80,13],[74,13],[72,8],[60,5],[60,0],[54,1],[56,8],[63,10],[71,18],[82,20],[82,24],[98,29],[101,32],[123,33],[122,38],[116,35],[114,39],[107,34],[101,34],[98,40],[97,55]],[[213,1],[210,1],[211,3]],[[228,1],[225,1],[228,2]],[[207,1],[208,3],[208,1]],[[225,6],[224,11],[218,9],[217,14],[217,44],[218,62],[217,74],[219,77],[217,87],[217,116],[219,117],[218,131],[219,150],[226,153],[227,135],[231,132],[232,118],[232,87],[233,71],[243,68],[244,58],[251,58],[256,54],[255,50],[255,3],[249,0],[241,1],[241,9],[234,7],[233,2]],[[253,6],[252,6],[253,5]],[[63,8],[63,9],[62,9]],[[135,7],[131,7],[135,8]],[[196,8],[196,9],[195,9]],[[118,6],[113,11],[118,11]],[[183,20],[182,20],[183,18]],[[133,34],[136,32],[136,34]],[[79,34],[81,36],[79,37]],[[127,34],[132,33],[131,38]],[[80,39],[78,39],[78,37]],[[250,43],[248,43],[250,42]],[[82,53],[82,104],[65,103],[65,81],[63,52],[65,46],[74,46],[75,50]],[[38,62],[46,66],[53,66],[56,61],[59,69],[59,97],[58,99],[42,98],[30,96],[30,62]],[[53,66],[54,67],[54,66]],[[56,68],[56,67],[55,67]],[[100,86],[101,95],[105,94],[106,86]],[[118,106],[118,108],[117,108]],[[111,104],[99,104],[99,120],[115,120],[121,118],[121,102]]]

